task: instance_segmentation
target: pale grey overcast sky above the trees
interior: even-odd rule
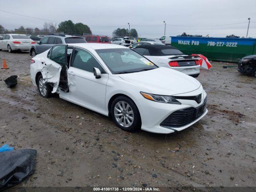
[[[201,34],[256,38],[256,0],[0,0],[0,10],[61,22],[87,24],[94,34],[111,35],[116,28],[135,28],[141,37],[160,38]],[[216,26],[234,24],[227,26]],[[43,28],[44,20],[0,11],[0,24],[7,29],[19,26]],[[178,25],[178,26],[173,26]]]

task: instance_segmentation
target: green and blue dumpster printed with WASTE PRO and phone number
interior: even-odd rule
[[[170,36],[171,45],[184,54],[203,54],[209,60],[238,62],[256,54],[256,38],[212,38]]]

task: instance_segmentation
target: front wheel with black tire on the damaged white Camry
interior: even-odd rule
[[[141,128],[140,112],[128,97],[119,96],[114,99],[111,104],[111,116],[115,124],[124,131],[132,132]]]

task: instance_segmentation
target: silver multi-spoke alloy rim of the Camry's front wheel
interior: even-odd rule
[[[125,101],[119,101],[114,108],[114,116],[120,126],[130,127],[134,121],[132,107]]]

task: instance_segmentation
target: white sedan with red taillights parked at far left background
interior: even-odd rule
[[[22,34],[5,34],[0,39],[0,50],[8,50],[9,53],[15,50],[29,50],[35,41]]]

